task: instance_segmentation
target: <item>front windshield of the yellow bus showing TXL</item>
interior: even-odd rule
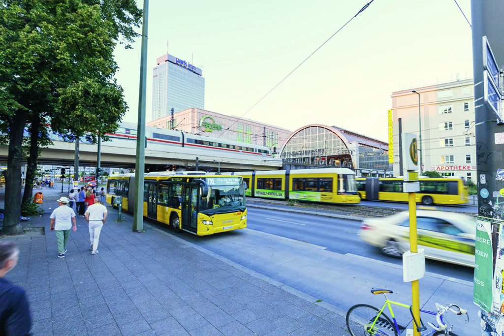
[[[208,195],[201,199],[206,215],[245,211],[245,190],[241,177],[207,177]]]

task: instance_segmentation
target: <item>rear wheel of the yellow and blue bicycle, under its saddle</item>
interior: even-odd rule
[[[371,324],[380,313],[377,309],[368,304],[357,304],[348,309],[346,322],[348,331],[352,336],[397,336],[397,331],[392,320],[385,313],[380,314],[378,320],[371,329]]]

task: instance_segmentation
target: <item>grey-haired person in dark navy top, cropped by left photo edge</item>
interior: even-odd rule
[[[19,259],[19,248],[9,240],[0,240],[0,335],[29,335],[31,315],[26,292],[4,277]]]

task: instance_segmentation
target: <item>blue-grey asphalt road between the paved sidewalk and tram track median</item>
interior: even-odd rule
[[[179,237],[237,262],[304,293],[346,310],[356,303],[383,304],[371,287],[394,290],[392,300],[411,302],[411,287],[402,279],[402,260],[381,254],[356,235],[360,223],[334,218],[248,208],[247,229],[196,237]],[[427,275],[420,280],[420,302],[458,303],[469,310],[471,321],[460,322],[459,335],[480,333],[477,308],[472,303],[473,268],[426,261]],[[409,312],[394,310],[407,324]],[[462,327],[461,327],[462,326]]]

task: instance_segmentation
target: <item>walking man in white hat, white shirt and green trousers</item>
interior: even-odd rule
[[[72,223],[74,224],[73,230],[77,231],[77,224],[75,222],[74,209],[67,207],[68,198],[60,197],[58,199],[59,207],[52,211],[51,231],[56,231],[56,239],[58,241],[58,258],[64,258],[67,253],[67,242],[70,237],[70,229]]]

